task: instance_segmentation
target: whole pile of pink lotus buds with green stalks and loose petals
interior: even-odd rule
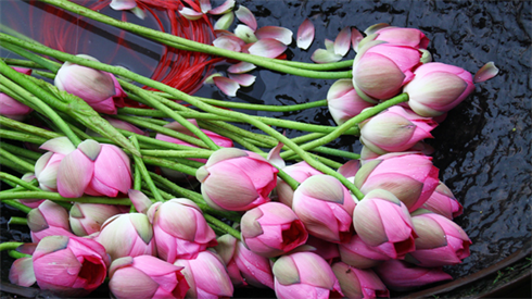
[[[431,62],[419,29],[383,24],[365,37],[342,29],[315,52],[317,63],[294,63],[282,54],[292,33],[257,28],[235,1],[215,9],[183,1],[179,10],[191,22],[221,15],[214,46],[67,1],[42,2],[239,61],[227,77],[207,79],[230,96],[253,84],[245,73],[255,67],[337,79],[322,103],[338,126],[236,112],[303,108],[231,107],[0,34],[2,45],[28,59],[0,62],[0,136],[12,140],[0,142],[0,157],[21,174],[0,173],[13,186],[0,199],[27,212],[12,223],[27,224],[31,236],[0,246],[17,258],[11,283],[65,298],[104,283],[115,298],[223,298],[239,287],[271,288],[278,298],[376,298],[452,279],[442,266],[469,256],[471,241],[453,222],[463,207],[440,182],[423,140],[474,83],[496,75],[493,63],[473,78]],[[149,5],[112,2],[138,15]],[[245,25],[230,33],[235,15]],[[313,39],[307,20],[296,43],[306,49]],[[351,47],[354,61],[340,61]],[[126,98],[151,109],[127,108]],[[291,139],[282,129],[309,134]],[[325,146],[344,134],[359,136],[359,154]]]

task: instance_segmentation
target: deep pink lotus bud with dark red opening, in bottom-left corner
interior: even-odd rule
[[[76,236],[42,238],[33,260],[39,288],[64,298],[84,297],[98,288],[110,264],[103,246]]]

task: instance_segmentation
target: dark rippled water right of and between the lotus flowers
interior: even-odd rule
[[[0,8],[4,1],[0,0]],[[20,2],[20,1],[15,1]],[[223,1],[213,1],[219,4]],[[464,215],[456,222],[464,227],[473,245],[471,257],[446,271],[454,277],[482,270],[522,248],[532,233],[531,139],[532,139],[532,5],[530,1],[238,1],[258,21],[258,27],[278,25],[294,34],[304,18],[316,27],[316,39],[308,51],[293,42],[289,48],[293,60],[309,62],[324,39],[334,39],[345,26],[359,30],[376,23],[417,27],[431,42],[434,61],[454,64],[476,73],[484,63],[494,61],[499,75],[477,85],[464,103],[448,113],[438,127],[431,145],[440,178],[464,204]],[[5,10],[0,10],[4,23]],[[132,20],[132,17],[131,17]],[[22,27],[23,24],[21,24]],[[102,28],[106,28],[102,26]],[[106,29],[104,29],[106,30]],[[111,30],[110,30],[111,32]],[[157,48],[150,48],[143,65],[153,65]],[[90,47],[89,47],[90,48]],[[101,49],[101,48],[100,48]],[[99,50],[97,50],[99,51]],[[97,55],[98,57],[98,55]],[[353,58],[351,51],[347,58]],[[125,59],[125,55],[121,55]],[[103,60],[103,59],[102,59]],[[135,60],[121,62],[132,71],[150,75],[150,67]],[[153,66],[151,66],[153,67]],[[292,104],[325,99],[333,80],[301,78],[258,70],[254,87],[243,89],[257,102]],[[205,87],[203,96],[221,97]],[[303,113],[267,113],[300,122],[333,124],[326,108]],[[297,132],[287,132],[290,137]],[[359,142],[343,137],[332,146],[359,151]],[[18,231],[8,231],[3,213],[0,241],[27,238]],[[2,256],[5,257],[5,256]],[[11,260],[2,259],[2,267]],[[2,277],[5,277],[7,269]]]

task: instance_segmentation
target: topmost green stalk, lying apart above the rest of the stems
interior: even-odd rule
[[[319,72],[319,71],[307,71],[307,70],[301,70],[297,67],[293,66],[288,66],[281,63],[278,63],[278,60],[275,59],[268,59],[268,58],[263,58],[263,57],[257,57],[257,55],[252,55],[252,54],[245,54],[245,53],[240,53],[240,52],[233,52],[229,51],[226,49],[221,48],[216,48],[214,46],[210,45],[204,45],[200,43],[197,41],[188,40],[186,38],[181,38],[178,36],[174,36],[170,34],[166,33],[161,33],[159,30],[150,29],[147,27],[142,27],[139,25],[135,25],[131,23],[127,22],[121,22],[117,20],[114,20],[112,17],[109,17],[106,15],[103,15],[101,13],[94,12],[90,9],[86,9],[81,5],[72,3],[69,1],[64,1],[64,0],[40,0],[41,2],[48,3],[55,5],[58,8],[62,8],[66,11],[73,12],[75,14],[79,14],[83,16],[86,16],[88,18],[118,27],[151,39],[154,39],[156,41],[160,41],[162,43],[165,43],[167,46],[175,47],[177,49],[183,49],[183,47],[187,50],[193,50],[198,52],[203,52],[207,54],[214,54],[214,55],[221,55],[230,59],[236,59],[240,61],[245,61],[250,62],[273,71],[281,72],[281,73],[287,73],[287,74],[292,74],[292,75],[297,75],[297,76],[303,76],[303,77],[311,77],[311,78],[324,78],[324,79],[340,79],[340,78],[351,78],[352,77],[352,72],[346,71],[346,72]]]

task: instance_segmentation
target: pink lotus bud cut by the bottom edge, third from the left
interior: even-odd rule
[[[181,273],[190,286],[187,298],[232,297],[231,278],[216,253],[202,251],[195,259],[179,259],[174,264],[183,266]]]

